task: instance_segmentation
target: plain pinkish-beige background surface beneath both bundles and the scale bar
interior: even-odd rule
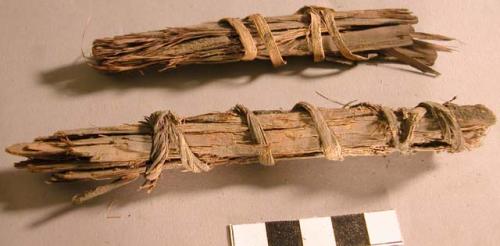
[[[289,14],[304,4],[336,9],[408,7],[417,30],[456,37],[431,78],[411,68],[359,65],[338,71],[312,59],[193,66],[136,78],[99,74],[80,58],[91,40],[251,13]],[[500,2],[484,1],[0,1],[0,148],[59,129],[135,122],[158,109],[179,115],[288,109],[358,99],[388,106],[423,100],[482,103],[499,112]],[[87,19],[90,23],[87,25]],[[87,26],[87,28],[86,28]],[[82,32],[86,35],[82,41]],[[52,185],[0,154],[1,245],[227,245],[226,225],[394,208],[407,245],[498,245],[498,126],[460,154],[288,161],[274,168],[168,172],[151,194],[127,187],[84,206],[87,184]],[[111,206],[109,206],[111,204]],[[111,218],[110,218],[111,217]]]

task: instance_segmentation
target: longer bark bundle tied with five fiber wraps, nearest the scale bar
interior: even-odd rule
[[[163,170],[203,172],[219,165],[392,152],[458,152],[478,147],[494,114],[482,105],[424,102],[396,110],[359,104],[337,109],[298,103],[291,111],[231,111],[180,118],[155,112],[138,124],[59,131],[7,152],[16,167],[52,174],[51,182],[112,180],[76,195],[80,203],[141,175],[151,190]]]

